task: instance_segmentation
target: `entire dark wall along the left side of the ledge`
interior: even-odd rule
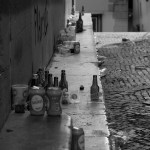
[[[65,0],[0,0],[0,129],[10,111],[11,85],[27,84],[51,60],[65,9]]]

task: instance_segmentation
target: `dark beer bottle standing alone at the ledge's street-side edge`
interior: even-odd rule
[[[97,83],[97,75],[93,75],[93,83],[90,89],[91,100],[97,101],[99,100],[99,86]]]

